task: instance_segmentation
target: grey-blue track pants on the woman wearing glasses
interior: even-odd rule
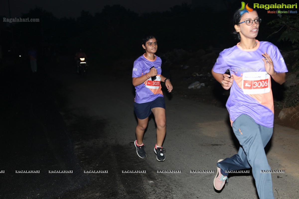
[[[260,199],[274,199],[271,173],[261,173],[261,170],[270,170],[264,147],[272,136],[273,128],[261,126],[244,114],[232,126],[241,147],[238,154],[217,163],[217,166],[223,171],[252,168]]]

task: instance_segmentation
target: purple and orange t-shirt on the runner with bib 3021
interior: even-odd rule
[[[155,60],[149,60],[145,57],[145,55],[141,55],[134,61],[132,78],[145,75],[145,73],[149,72],[149,69],[153,66],[157,69],[158,72],[157,78],[154,81],[152,81],[151,78],[148,78],[144,83],[135,86],[135,102],[138,104],[153,101],[158,97],[164,97],[160,84],[162,60],[158,56],[155,57]]]

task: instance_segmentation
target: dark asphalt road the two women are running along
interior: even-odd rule
[[[15,99],[23,96],[20,94],[4,100],[13,107],[9,102],[15,99],[19,106],[14,107],[13,113],[7,109],[4,112],[17,120],[5,125],[6,130],[12,127],[10,136],[1,135],[2,151],[10,151],[1,156],[1,170],[5,170],[0,173],[1,198],[258,198],[251,173],[230,175],[221,192],[213,188],[214,173],[190,173],[216,170],[219,159],[237,152],[238,143],[226,109],[165,95],[166,160],[158,162],[155,158],[153,118],[144,135],[147,158],[141,159],[133,144],[137,121],[129,67],[90,70],[86,78],[63,64],[45,71],[47,75],[39,76],[33,84],[27,82],[30,88],[36,88],[30,92],[32,95],[26,95],[27,103]],[[175,90],[176,85],[173,87]],[[33,96],[36,101],[32,102]],[[16,116],[20,109],[23,113],[31,112],[30,117]],[[21,130],[16,131],[16,124],[22,126]],[[297,130],[275,125],[271,143],[266,147],[271,169],[285,170],[272,174],[277,199],[299,198],[298,138]],[[16,151],[22,153],[13,155]],[[55,169],[73,173],[48,173]],[[15,170],[40,173],[19,174]],[[135,170],[146,173],[123,173]],[[181,173],[158,173],[160,170]]]

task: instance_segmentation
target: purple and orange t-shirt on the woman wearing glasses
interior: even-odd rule
[[[288,72],[278,48],[266,41],[257,41],[254,49],[242,49],[238,43],[220,52],[217,58],[213,71],[223,74],[229,70],[234,76],[226,103],[231,123],[241,114],[246,114],[257,124],[273,127],[271,76],[267,74],[262,60],[265,52],[270,55],[276,72]]]

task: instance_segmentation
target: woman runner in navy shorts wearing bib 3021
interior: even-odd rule
[[[165,102],[161,90],[161,82],[165,82],[168,92],[172,91],[169,78],[161,75],[161,58],[155,55],[158,49],[157,39],[149,35],[142,39],[142,47],[145,53],[134,61],[132,82],[136,89],[134,110],[138,124],[134,145],[140,158],[147,157],[144,151],[143,134],[147,127],[149,115],[154,114],[157,125],[157,143],[154,152],[158,161],[165,160],[165,149],[162,144],[166,133]]]

